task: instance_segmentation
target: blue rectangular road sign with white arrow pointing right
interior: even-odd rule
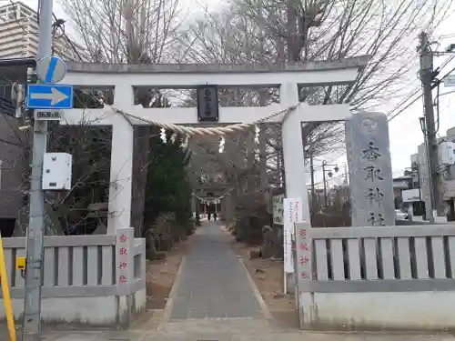
[[[71,109],[73,85],[32,84],[27,86],[27,109]]]

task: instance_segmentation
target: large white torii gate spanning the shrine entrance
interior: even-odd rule
[[[301,65],[105,65],[67,63],[62,84],[86,87],[114,86],[114,107],[126,113],[176,125],[195,125],[197,108],[143,108],[134,105],[134,88],[191,88],[197,85],[277,87],[280,103],[261,107],[219,107],[219,124],[250,123],[298,104],[298,85],[346,85],[356,80],[369,56],[338,61],[310,62]],[[302,122],[343,121],[350,115],[349,105],[299,105],[281,122],[286,176],[286,196],[301,197],[303,217],[309,222],[307,176],[301,138]],[[112,152],[107,234],[130,226],[133,173],[133,126],[112,108],[66,110],[62,125],[112,125]],[[144,122],[133,120],[134,125]]]

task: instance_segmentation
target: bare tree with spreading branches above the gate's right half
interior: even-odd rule
[[[236,0],[225,11],[207,13],[182,41],[180,58],[196,63],[299,63],[371,55],[353,85],[303,88],[309,105],[349,103],[352,110],[380,110],[405,88],[415,65],[413,39],[431,31],[448,15],[451,0]],[[263,92],[278,100],[277,92]],[[311,123],[302,130],[306,153],[333,152],[342,126]],[[268,153],[281,155],[277,136]],[[277,166],[282,160],[275,157]],[[273,165],[273,163],[268,163]]]

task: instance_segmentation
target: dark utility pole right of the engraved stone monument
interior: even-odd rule
[[[438,216],[444,215],[444,206],[440,190],[438,144],[434,122],[432,82],[435,78],[433,70],[433,52],[430,48],[429,36],[422,32],[419,36],[418,51],[420,53],[420,81],[423,91],[423,105],[426,129],[423,131],[428,145],[428,168],[430,173],[430,196],[432,208],[436,208]]]

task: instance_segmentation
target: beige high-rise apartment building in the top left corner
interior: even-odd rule
[[[36,11],[22,3],[0,6],[0,59],[35,56],[38,51],[38,19]],[[77,52],[80,46],[73,47],[56,31],[54,51],[66,60],[80,61]]]

